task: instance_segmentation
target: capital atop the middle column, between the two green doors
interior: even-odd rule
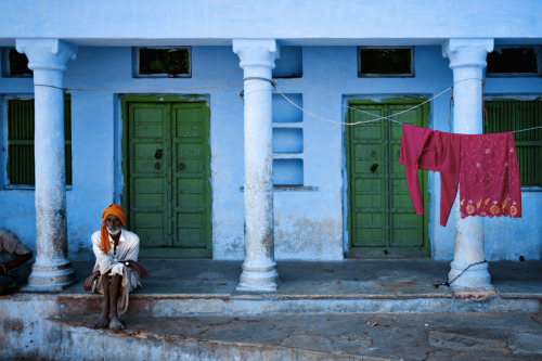
[[[274,39],[233,39],[233,52],[241,60],[243,69],[267,67],[274,69],[274,61],[279,59],[279,47]]]

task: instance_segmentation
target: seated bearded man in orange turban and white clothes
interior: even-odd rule
[[[146,276],[145,269],[137,262],[139,237],[122,230],[124,225],[126,217],[122,207],[112,204],[102,215],[101,230],[91,237],[96,262],[94,272],[85,280],[83,288],[104,296],[103,311],[94,328],[109,326],[114,331],[124,330],[117,308],[126,312],[129,293],[141,286],[139,278]]]

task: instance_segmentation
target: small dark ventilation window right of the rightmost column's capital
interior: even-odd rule
[[[540,47],[495,47],[488,54],[489,77],[540,76]]]

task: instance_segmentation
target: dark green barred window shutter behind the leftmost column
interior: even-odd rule
[[[10,185],[35,185],[34,99],[8,100],[8,180]],[[72,184],[72,107],[64,98],[66,184]]]

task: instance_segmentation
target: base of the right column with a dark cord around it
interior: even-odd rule
[[[469,266],[468,263],[452,262],[450,266],[452,269],[448,274],[448,280],[451,282],[450,288],[454,293],[463,291],[494,292],[495,288],[491,284],[487,262],[472,266],[466,271],[464,270]]]

